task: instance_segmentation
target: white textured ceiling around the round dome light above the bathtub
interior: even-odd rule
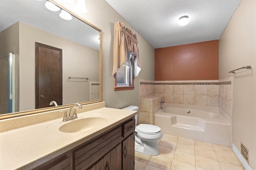
[[[106,0],[154,48],[219,39],[240,1]]]

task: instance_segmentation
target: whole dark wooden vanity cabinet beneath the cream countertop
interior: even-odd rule
[[[134,170],[134,133],[132,117],[35,169]]]

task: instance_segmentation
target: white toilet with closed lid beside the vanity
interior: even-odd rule
[[[138,106],[128,106],[123,109],[138,111]],[[135,125],[138,114],[135,115]],[[135,126],[135,151],[147,155],[158,155],[158,141],[162,139],[161,128],[155,125],[140,124]]]

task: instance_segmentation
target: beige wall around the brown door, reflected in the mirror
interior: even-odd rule
[[[89,81],[99,81],[99,51],[21,22],[19,25],[20,111],[35,108],[35,42],[62,49],[63,104],[89,101]],[[69,76],[90,80],[68,79]]]

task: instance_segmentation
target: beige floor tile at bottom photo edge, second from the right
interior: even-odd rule
[[[206,170],[220,170],[218,161],[201,156],[196,156],[196,167],[204,168]]]

